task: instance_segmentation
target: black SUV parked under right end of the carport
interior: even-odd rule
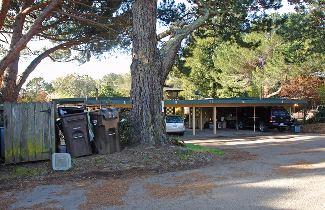
[[[254,127],[254,109],[244,108],[239,112],[238,128]],[[277,128],[284,131],[292,124],[291,116],[285,108],[255,107],[255,128],[267,132],[268,128]]]

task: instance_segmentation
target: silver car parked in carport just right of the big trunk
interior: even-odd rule
[[[186,124],[181,116],[167,115],[165,117],[165,124],[167,133],[184,135]]]

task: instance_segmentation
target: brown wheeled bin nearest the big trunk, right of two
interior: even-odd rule
[[[90,122],[93,125],[94,139],[99,154],[111,154],[120,151],[120,110],[102,108],[89,112]]]

